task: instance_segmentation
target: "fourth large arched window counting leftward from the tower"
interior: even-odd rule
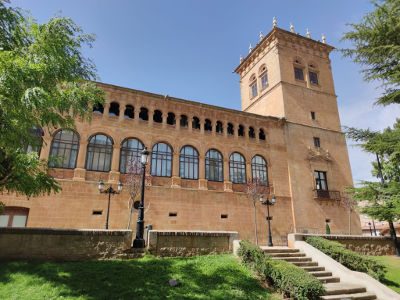
[[[181,149],[179,176],[185,179],[199,179],[199,153],[192,146]]]

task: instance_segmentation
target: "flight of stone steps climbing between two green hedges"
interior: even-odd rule
[[[285,260],[315,276],[324,284],[325,287],[326,292],[321,299],[377,299],[376,295],[367,292],[367,289],[364,286],[340,282],[339,277],[332,276],[332,273],[329,272],[329,270],[325,270],[325,267],[319,266],[318,262],[312,261],[311,258],[307,257],[298,249],[287,247],[261,247],[261,249],[271,256],[272,259]]]

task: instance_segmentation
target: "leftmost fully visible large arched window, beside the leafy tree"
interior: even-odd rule
[[[50,149],[49,167],[73,169],[79,150],[79,137],[72,130],[59,130],[53,138]]]

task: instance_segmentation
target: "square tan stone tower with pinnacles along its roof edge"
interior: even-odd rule
[[[361,233],[343,207],[353,185],[346,141],[341,132],[329,53],[334,48],[276,27],[241,59],[242,110],[285,120],[294,231]],[[271,164],[274,162],[272,161]],[[289,212],[288,212],[289,213]]]

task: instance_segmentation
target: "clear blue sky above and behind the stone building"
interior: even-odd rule
[[[240,109],[239,77],[232,73],[258,33],[278,26],[345,47],[340,37],[347,23],[372,9],[367,0],[16,0],[39,22],[55,15],[71,17],[96,35],[85,53],[101,81]],[[374,106],[377,83],[365,83],[360,67],[340,53],[331,55],[342,125],[382,129],[400,116],[399,106]],[[370,179],[373,159],[352,146],[355,183]]]

